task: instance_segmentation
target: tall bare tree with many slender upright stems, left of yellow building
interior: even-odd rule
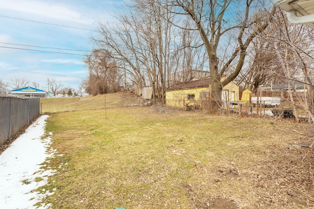
[[[154,102],[157,98],[165,102],[165,89],[173,84],[173,74],[198,68],[200,60],[195,54],[200,53],[199,48],[190,46],[198,45],[194,42],[200,39],[194,40],[193,30],[182,32],[173,26],[178,20],[168,12],[170,4],[160,0],[132,2],[129,13],[116,15],[118,24],[100,24],[101,38],[93,41],[97,49],[123,63],[134,84],[151,86]]]

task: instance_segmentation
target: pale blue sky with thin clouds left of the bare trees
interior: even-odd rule
[[[24,78],[47,90],[49,78],[77,90],[88,75],[84,56],[6,47],[86,54],[53,48],[92,50],[90,37],[97,36],[93,30],[99,22],[113,22],[111,15],[119,12],[125,1],[0,0],[0,79]]]

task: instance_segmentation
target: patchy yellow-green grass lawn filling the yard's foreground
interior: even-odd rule
[[[307,124],[132,107],[108,109],[107,119],[105,110],[51,114],[46,129],[61,154],[47,163],[58,171],[44,187],[56,188],[44,201],[54,209],[215,208],[215,200],[222,208],[302,208],[314,201],[313,153],[300,162],[307,149],[294,145],[312,143],[299,134]]]

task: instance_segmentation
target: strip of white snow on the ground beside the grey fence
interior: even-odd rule
[[[48,209],[50,205],[34,205],[53,191],[34,191],[48,182],[56,171],[46,168],[47,158],[55,150],[51,138],[45,136],[46,119],[40,116],[0,155],[0,209]],[[42,138],[45,136],[45,138]],[[35,181],[37,179],[37,182]],[[39,181],[41,180],[41,181]]]

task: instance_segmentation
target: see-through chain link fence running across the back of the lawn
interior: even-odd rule
[[[83,97],[68,98],[41,98],[40,113],[57,113],[66,111],[83,111],[108,109],[116,107],[131,107],[131,106],[150,106],[152,100],[145,100],[140,97],[124,97],[124,98],[106,98],[102,99],[84,99]],[[166,107],[179,108],[183,111],[205,110],[210,112],[215,101],[212,100],[175,100],[167,99]],[[162,104],[162,101],[157,101],[157,104]],[[276,116],[276,117],[294,117],[293,110],[296,109],[301,117],[306,117],[304,110],[298,106],[294,106],[291,102],[285,99],[274,101],[273,98],[268,100],[266,97],[263,100],[252,102],[237,102],[223,101],[221,104],[222,114],[239,114],[243,116]]]

